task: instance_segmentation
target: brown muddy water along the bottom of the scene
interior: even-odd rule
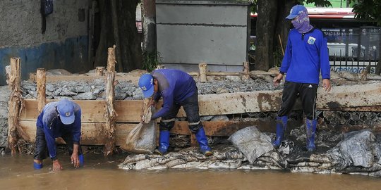
[[[123,158],[85,154],[85,167],[74,169],[61,156],[64,170],[32,169],[32,156],[0,156],[0,189],[381,189],[381,179],[356,175],[317,175],[269,170],[117,169]]]

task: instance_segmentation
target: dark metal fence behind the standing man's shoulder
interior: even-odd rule
[[[331,70],[370,73],[380,59],[380,27],[325,28]]]

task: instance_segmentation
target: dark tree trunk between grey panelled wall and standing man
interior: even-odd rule
[[[274,32],[276,29],[277,0],[258,0],[257,49],[255,70],[268,70],[274,63]]]

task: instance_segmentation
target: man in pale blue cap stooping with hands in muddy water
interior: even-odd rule
[[[33,166],[42,168],[42,160],[49,153],[53,161],[53,170],[62,170],[57,158],[55,138],[62,137],[71,153],[71,163],[74,167],[83,165],[83,153],[80,147],[80,106],[77,103],[63,99],[48,103],[37,118],[36,148]],[[48,152],[47,152],[48,151]]]

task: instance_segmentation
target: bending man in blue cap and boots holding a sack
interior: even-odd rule
[[[162,108],[151,118],[151,120],[155,120],[162,117],[159,124],[159,148],[155,153],[160,155],[167,153],[169,131],[174,127],[180,106],[183,106],[188,118],[189,129],[195,134],[200,151],[205,156],[212,156],[198,113],[198,89],[191,75],[181,70],[154,70],[151,74],[140,77],[139,87],[143,90],[145,98],[153,95],[153,104],[157,103],[160,97],[163,98]]]

